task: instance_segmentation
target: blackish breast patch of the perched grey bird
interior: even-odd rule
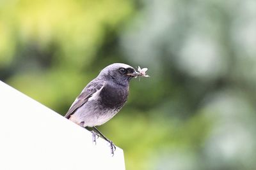
[[[127,101],[129,87],[106,85],[100,92],[100,103],[107,108],[120,109]]]

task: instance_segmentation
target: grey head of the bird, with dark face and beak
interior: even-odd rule
[[[112,80],[119,85],[129,85],[129,81],[139,75],[140,73],[136,72],[132,66],[122,63],[111,64],[102,69],[99,74],[100,78]]]

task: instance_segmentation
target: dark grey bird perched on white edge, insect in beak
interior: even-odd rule
[[[102,138],[110,143],[111,153],[115,145],[95,126],[102,125],[113,118],[124,106],[129,94],[129,81],[141,74],[127,64],[114,63],[90,81],[76,101],[70,106],[65,117],[82,127],[92,127]],[[93,141],[95,142],[95,132]]]

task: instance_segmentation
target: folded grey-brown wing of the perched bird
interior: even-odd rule
[[[103,80],[93,80],[91,81],[86,87],[84,87],[81,94],[76,98],[74,103],[70,106],[68,112],[66,113],[65,117],[70,118],[70,116],[80,108],[84,103],[88,101],[90,97],[93,97],[97,91],[102,89],[105,85],[105,81]]]

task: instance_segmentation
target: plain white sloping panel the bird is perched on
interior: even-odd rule
[[[0,81],[0,169],[125,169],[124,153]]]

